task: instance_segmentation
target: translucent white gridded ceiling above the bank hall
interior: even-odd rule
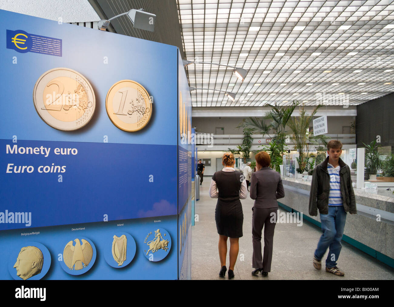
[[[193,107],[359,105],[394,92],[394,1],[177,0]]]

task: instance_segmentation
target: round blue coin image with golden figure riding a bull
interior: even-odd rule
[[[171,249],[171,236],[168,231],[160,227],[149,231],[143,244],[143,253],[149,261],[163,260]]]

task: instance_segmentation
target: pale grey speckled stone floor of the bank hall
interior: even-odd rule
[[[198,221],[191,227],[191,279],[221,279],[220,261],[217,250],[219,235],[215,223],[217,198],[209,197],[211,176],[205,176],[200,185],[200,200],[195,202],[195,214]],[[394,269],[372,256],[342,241],[342,251],[338,259],[338,268],[345,272],[340,277],[325,271],[325,258],[322,258],[322,270],[314,269],[312,258],[316,249],[321,229],[309,222],[277,223],[273,240],[271,272],[268,277],[251,275],[252,268],[252,207],[254,200],[248,196],[241,199],[243,209],[243,237],[240,238],[240,250],[234,268],[234,280],[242,279],[394,279]],[[286,212],[279,207],[280,212]],[[263,230],[264,232],[264,230]],[[262,236],[262,245],[264,237]],[[227,241],[227,270],[229,270],[229,248]],[[243,255],[243,260],[242,260]]]

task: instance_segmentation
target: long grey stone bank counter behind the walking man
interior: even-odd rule
[[[318,216],[309,215],[311,182],[289,177],[282,178],[282,182],[286,196],[279,199],[279,206],[290,212],[301,212],[304,220],[321,227],[320,213]],[[354,189],[354,193],[357,214],[348,213],[342,240],[394,267],[392,191],[378,190],[375,194]]]

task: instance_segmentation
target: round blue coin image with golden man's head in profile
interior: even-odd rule
[[[11,250],[8,270],[16,280],[39,280],[48,272],[51,257],[41,243],[28,242]]]

